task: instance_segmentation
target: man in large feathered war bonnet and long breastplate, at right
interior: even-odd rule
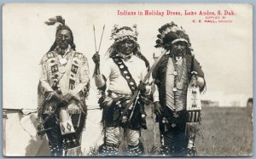
[[[201,117],[200,110],[194,112],[187,109],[187,91],[189,86],[198,87],[198,93],[205,89],[204,73],[191,54],[189,36],[182,27],[173,22],[167,23],[160,27],[159,32],[155,47],[165,49],[166,54],[161,57],[152,75],[154,113],[160,124],[161,155],[195,156],[195,133],[200,129]],[[193,93],[196,95],[196,91]]]

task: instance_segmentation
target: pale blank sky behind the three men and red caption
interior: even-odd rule
[[[118,15],[120,11],[144,10],[160,15]],[[166,10],[233,11],[225,16],[232,23],[193,23],[204,20],[205,15],[166,15]],[[56,26],[44,21],[62,15],[73,30],[74,43],[84,53],[92,76],[95,53],[93,24],[96,26],[96,43],[99,44],[102,26],[105,31],[101,53],[113,43],[109,39],[114,24],[137,24],[138,43],[143,54],[153,64],[154,42],[158,28],[174,21],[189,34],[195,58],[200,61],[207,80],[207,93],[203,99],[246,100],[253,97],[253,19],[252,6],[245,4],[8,4],[3,7],[3,107],[36,108],[39,62],[55,41]],[[221,16],[220,16],[221,17]],[[93,80],[91,80],[93,81]],[[91,84],[89,105],[96,104],[96,88]]]

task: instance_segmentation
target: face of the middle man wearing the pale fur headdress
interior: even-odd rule
[[[119,43],[118,50],[121,54],[131,54],[135,48],[135,43],[131,40],[124,40]]]

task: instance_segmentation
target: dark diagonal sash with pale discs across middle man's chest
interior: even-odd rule
[[[123,60],[121,60],[121,58],[118,56],[113,57],[112,59],[113,59],[113,62],[116,65],[118,65],[119,71],[121,72],[122,77],[125,78],[125,81],[127,82],[129,88],[131,89],[132,94],[134,94],[135,91],[137,91],[137,84],[133,79],[133,77],[131,77],[131,73],[128,70],[127,66],[124,64]]]

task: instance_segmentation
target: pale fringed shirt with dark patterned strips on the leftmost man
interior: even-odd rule
[[[61,64],[61,59],[66,59],[67,63]],[[73,94],[82,104],[85,104],[85,98],[90,87],[90,78],[88,61],[84,54],[68,48],[65,54],[61,56],[58,54],[58,48],[55,48],[54,51],[44,54],[41,65],[42,71],[38,91],[41,98],[38,99],[38,106],[54,91],[56,84],[58,84],[63,95]],[[45,109],[47,110],[47,108]],[[48,111],[50,110],[48,109]]]

